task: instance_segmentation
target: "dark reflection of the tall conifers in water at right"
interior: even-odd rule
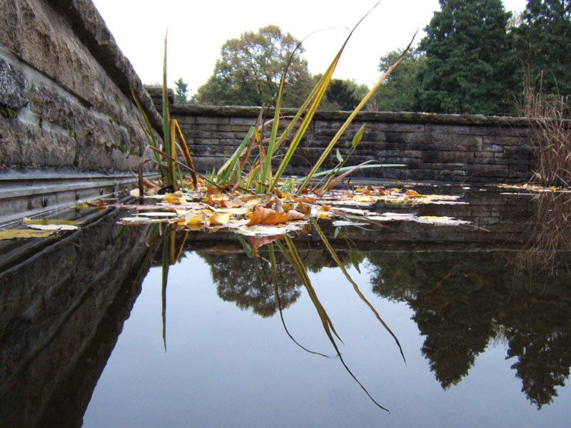
[[[371,253],[373,291],[407,302],[424,335],[423,355],[443,388],[468,374],[500,336],[522,391],[538,408],[557,396],[571,366],[571,275],[536,275],[524,287],[510,253]]]

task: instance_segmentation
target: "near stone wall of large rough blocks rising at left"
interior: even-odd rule
[[[161,117],[94,4],[1,1],[0,29],[0,187],[132,177],[146,138],[131,88],[156,128]]]

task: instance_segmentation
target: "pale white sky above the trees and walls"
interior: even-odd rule
[[[188,94],[212,75],[222,45],[244,31],[274,24],[306,39],[305,59],[312,74],[323,73],[352,28],[377,0],[93,0],[108,29],[143,83],[162,78],[168,30],[168,85],[183,78]],[[504,0],[508,11],[522,11],[526,0]],[[404,49],[418,29],[440,10],[438,0],[381,0],[353,34],[335,70],[373,86],[380,56]],[[323,31],[318,31],[323,30]],[[318,31],[315,33],[315,31]],[[312,34],[313,33],[313,34]]]

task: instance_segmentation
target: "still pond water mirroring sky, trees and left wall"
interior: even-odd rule
[[[323,225],[356,289],[315,233],[294,240],[311,287],[276,249],[277,290],[266,247],[248,258],[231,233],[178,233],[165,284],[153,225],[121,211],[91,213],[71,243],[4,245],[0,422],[562,426],[571,275],[520,268],[532,199],[501,193],[463,190],[453,216],[471,226]]]

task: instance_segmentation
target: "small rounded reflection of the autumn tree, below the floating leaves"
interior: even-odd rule
[[[248,258],[245,253],[232,255],[197,253],[210,265],[212,280],[218,296],[226,302],[235,302],[242,310],[251,309],[262,317],[271,317],[278,310],[271,280],[271,266],[266,258]],[[276,260],[278,290],[282,309],[300,296],[299,278],[283,257]]]

